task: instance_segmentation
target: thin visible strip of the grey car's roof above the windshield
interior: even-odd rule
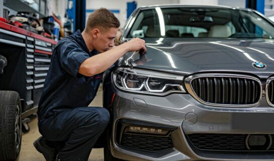
[[[238,9],[238,10],[247,10],[239,7],[229,7],[229,6],[221,6],[221,5],[181,5],[181,4],[171,4],[171,5],[151,5],[151,6],[140,6],[140,9],[146,8],[155,8],[155,7],[211,7],[211,8],[224,8],[224,9]]]

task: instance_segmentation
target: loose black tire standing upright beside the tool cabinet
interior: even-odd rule
[[[0,91],[0,160],[16,160],[21,149],[20,96],[14,91]]]

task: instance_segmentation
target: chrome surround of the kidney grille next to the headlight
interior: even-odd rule
[[[252,79],[253,81],[256,81],[259,83],[260,86],[260,97],[257,103],[255,104],[248,104],[248,105],[229,105],[229,104],[215,104],[215,103],[208,103],[200,99],[200,97],[197,96],[197,94],[194,92],[193,87],[191,86],[191,83],[196,78],[202,78],[202,77],[236,77],[236,78],[247,78]],[[186,77],[185,79],[185,86],[186,90],[190,93],[194,99],[196,99],[198,102],[208,105],[208,106],[216,106],[216,107],[255,107],[258,106],[262,99],[262,84],[260,80],[256,77],[249,76],[249,75],[243,75],[243,74],[226,74],[226,73],[204,73],[204,74],[194,74],[191,76]]]

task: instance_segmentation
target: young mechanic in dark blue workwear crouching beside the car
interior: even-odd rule
[[[139,38],[113,48],[119,26],[113,13],[98,9],[88,16],[82,33],[78,30],[54,48],[38,107],[42,136],[34,141],[47,161],[87,160],[108,125],[108,110],[87,107],[102,73],[126,52],[146,51]]]

